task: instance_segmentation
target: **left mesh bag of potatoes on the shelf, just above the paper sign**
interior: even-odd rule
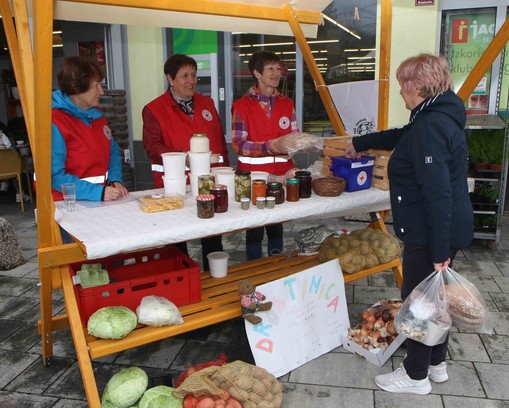
[[[345,273],[355,273],[379,264],[378,258],[367,242],[350,235],[334,235],[323,241],[318,260],[327,262],[338,258]]]

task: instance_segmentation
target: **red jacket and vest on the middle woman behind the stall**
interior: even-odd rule
[[[221,120],[208,96],[194,94],[194,115],[191,119],[171,96],[170,92],[148,103],[142,112],[143,146],[152,160],[154,187],[163,187],[164,169],[161,154],[188,152],[194,133],[206,133],[212,153],[220,154],[223,162],[216,166],[229,166],[228,147]],[[213,165],[214,166],[214,165]]]

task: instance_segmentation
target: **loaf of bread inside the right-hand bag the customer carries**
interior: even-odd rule
[[[464,285],[446,285],[449,313],[453,326],[459,329],[476,330],[486,319],[486,310],[479,299]]]

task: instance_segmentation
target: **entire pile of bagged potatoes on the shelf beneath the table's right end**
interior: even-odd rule
[[[390,234],[371,228],[334,235],[325,239],[318,252],[320,262],[338,258],[345,273],[355,273],[401,255],[398,240]]]

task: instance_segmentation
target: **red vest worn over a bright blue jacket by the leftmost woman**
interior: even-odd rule
[[[101,117],[87,126],[60,109],[53,109],[52,122],[64,138],[67,156],[66,172],[94,184],[104,185],[110,164],[111,130]],[[52,190],[53,200],[61,201],[62,193]]]

